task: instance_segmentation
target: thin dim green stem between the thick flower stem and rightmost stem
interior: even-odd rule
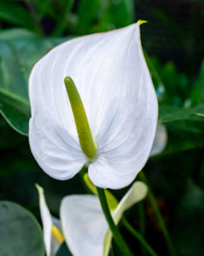
[[[135,236],[135,238],[137,238],[137,240],[140,241],[140,243],[144,246],[144,248],[147,250],[147,252],[150,253],[150,255],[152,256],[158,256],[156,252],[154,252],[154,250],[152,249],[152,247],[150,247],[150,245],[147,243],[147,241],[145,241],[144,237],[142,235],[140,235],[139,232],[137,232],[131,225],[130,223],[127,221],[127,219],[125,219],[125,217],[122,217],[122,223],[125,226],[125,228],[128,229],[128,231],[130,231],[130,233]]]

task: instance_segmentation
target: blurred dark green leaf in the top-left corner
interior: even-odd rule
[[[20,4],[0,2],[0,18],[15,25],[33,28],[34,21],[29,12]]]

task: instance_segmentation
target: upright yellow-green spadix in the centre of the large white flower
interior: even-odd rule
[[[72,107],[72,113],[74,114],[74,121],[82,152],[84,152],[89,159],[93,159],[96,155],[96,143],[94,142],[91,134],[91,129],[81,97],[70,76],[66,76],[64,78],[64,83]]]

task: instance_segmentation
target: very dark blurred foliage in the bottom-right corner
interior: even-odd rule
[[[204,214],[204,192],[188,180],[186,193],[179,201],[173,221],[174,243],[181,256],[204,253],[204,227],[201,221]]]

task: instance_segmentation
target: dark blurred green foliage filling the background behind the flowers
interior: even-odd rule
[[[159,121],[168,131],[166,150],[149,159],[145,173],[178,256],[200,256],[204,253],[204,13],[200,0],[2,0],[0,113],[11,126],[0,118],[0,199],[18,202],[40,219],[36,182],[45,188],[48,206],[56,217],[64,195],[86,193],[80,174],[69,181],[53,180],[33,159],[28,138],[22,136],[28,135],[30,118],[28,77],[38,59],[60,42],[139,19],[149,21],[141,27],[142,43],[159,99]],[[121,198],[125,190],[113,193]],[[137,207],[128,217],[139,229]],[[148,200],[144,219],[145,238],[159,255],[166,255]],[[140,252],[133,238],[129,242]],[[62,254],[65,250],[62,245],[60,255],[68,255]]]

